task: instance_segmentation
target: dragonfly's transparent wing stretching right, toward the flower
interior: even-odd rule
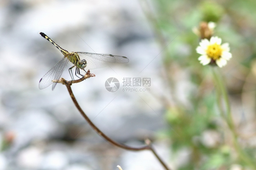
[[[127,63],[129,59],[123,56],[111,54],[96,54],[89,52],[77,52],[80,60],[85,59],[87,62],[85,70],[103,68],[110,66],[112,63]]]

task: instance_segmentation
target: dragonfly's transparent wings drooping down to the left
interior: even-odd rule
[[[52,84],[52,90],[56,86],[57,82],[53,80],[59,80],[63,73],[65,66],[68,63],[68,57],[64,56],[51,70],[49,70],[39,81],[39,89],[44,89]]]

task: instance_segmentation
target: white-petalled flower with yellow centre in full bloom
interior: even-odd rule
[[[202,65],[216,62],[219,67],[226,65],[227,60],[230,60],[232,57],[229,51],[229,44],[224,43],[221,45],[221,38],[217,36],[211,37],[210,41],[208,39],[202,39],[196,48],[196,52],[201,54],[198,60]]]

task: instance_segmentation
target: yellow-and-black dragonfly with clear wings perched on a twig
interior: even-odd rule
[[[65,66],[68,62],[74,64],[71,68],[68,69],[71,79],[74,80],[72,73],[72,68],[75,67],[75,75],[80,78],[78,75],[83,76],[80,73],[80,70],[95,69],[107,67],[111,63],[127,63],[129,59],[124,56],[117,56],[112,54],[96,54],[90,52],[68,52],[67,50],[61,48],[58,44],[50,39],[45,33],[40,32],[40,35],[47,39],[51,44],[57,47],[64,57],[49,70],[39,81],[39,89],[44,89],[52,84],[52,90],[55,88],[57,81],[60,79]],[[85,73],[87,73],[85,71]]]

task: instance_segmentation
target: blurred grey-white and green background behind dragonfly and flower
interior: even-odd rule
[[[171,169],[256,169],[255,8],[253,0],[2,0],[0,169],[163,169],[151,152],[99,137],[62,84],[39,90],[40,78],[63,57],[39,32],[70,52],[129,58],[90,70],[95,77],[71,86],[110,138],[133,147],[151,139]],[[214,35],[230,44],[233,57],[224,68],[197,60],[192,28],[201,21],[215,22]],[[220,116],[212,69],[224,79],[244,157]],[[117,92],[105,88],[110,77],[120,82]],[[150,78],[151,86],[130,92],[124,78]]]

